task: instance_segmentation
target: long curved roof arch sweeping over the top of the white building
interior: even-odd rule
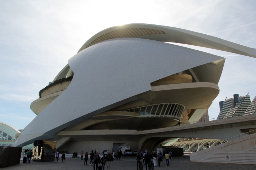
[[[86,41],[78,52],[98,42],[114,38],[143,38],[162,42],[176,42],[256,58],[256,49],[226,41],[214,36],[181,28],[139,23],[114,26],[102,30]]]

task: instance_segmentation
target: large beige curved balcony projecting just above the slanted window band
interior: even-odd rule
[[[186,109],[208,109],[219,94],[217,84],[208,82],[169,84],[151,86],[150,91],[136,95],[139,100],[112,109],[112,111],[128,110],[159,103],[182,104]]]

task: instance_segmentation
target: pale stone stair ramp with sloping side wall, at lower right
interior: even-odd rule
[[[256,165],[256,134],[190,154],[191,162]]]

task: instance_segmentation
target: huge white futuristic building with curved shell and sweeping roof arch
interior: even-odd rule
[[[256,57],[255,49],[179,28],[105,29],[40,91],[31,103],[37,117],[15,145],[54,140],[57,149],[71,152],[151,150],[169,138],[151,137],[151,130],[199,120],[219,94],[225,58],[165,42]]]

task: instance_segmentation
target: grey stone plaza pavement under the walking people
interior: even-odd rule
[[[67,158],[65,163],[59,162],[35,162],[3,168],[3,170],[93,170],[93,165],[84,165],[79,158]],[[144,170],[145,170],[144,166]],[[107,167],[105,166],[105,170]],[[127,156],[122,160],[115,160],[111,164],[111,170],[137,170],[135,156]],[[190,162],[189,155],[172,157],[170,166],[166,166],[165,159],[161,166],[155,166],[155,170],[256,170],[256,165],[223,164],[223,163],[194,163]]]

